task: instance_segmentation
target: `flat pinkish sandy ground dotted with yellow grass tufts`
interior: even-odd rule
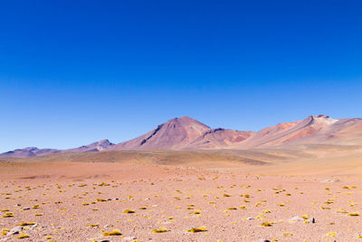
[[[0,241],[362,241],[360,156],[307,157],[223,168],[2,161]]]

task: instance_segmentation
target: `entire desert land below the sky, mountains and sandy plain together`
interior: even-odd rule
[[[361,125],[182,117],[119,144],[6,152],[0,241],[360,241]]]

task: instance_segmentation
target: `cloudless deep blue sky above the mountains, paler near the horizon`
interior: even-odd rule
[[[258,131],[362,117],[361,1],[0,2],[0,151],[187,115]]]

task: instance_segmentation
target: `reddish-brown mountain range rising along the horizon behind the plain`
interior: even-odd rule
[[[309,116],[302,121],[279,123],[254,132],[212,129],[200,121],[183,116],[119,144],[100,140],[68,150],[28,147],[2,153],[0,158],[104,150],[244,150],[312,143],[362,144],[362,119],[337,120],[326,115]]]

